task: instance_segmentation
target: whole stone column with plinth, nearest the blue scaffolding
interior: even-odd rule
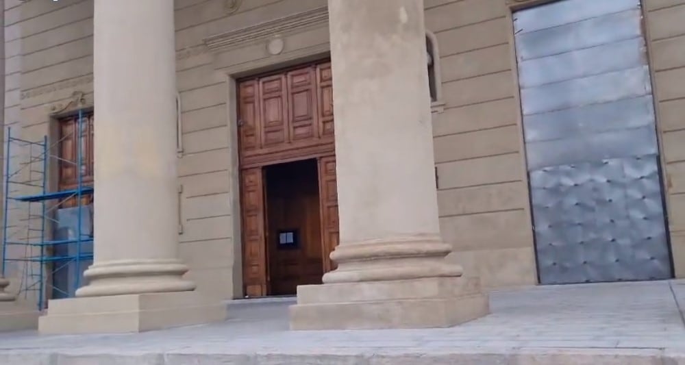
[[[177,254],[173,1],[95,0],[95,263],[45,333],[144,331],[225,318]]]

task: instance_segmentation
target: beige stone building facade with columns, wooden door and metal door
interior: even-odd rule
[[[472,308],[376,323],[402,327],[483,315],[478,293],[494,288],[684,277],[685,0],[175,0],[175,82],[160,70],[164,1],[5,0],[5,126],[47,136],[59,154],[72,148],[56,143],[60,123],[86,111],[88,163],[106,171],[93,205],[107,238],[86,272],[100,284],[53,301],[45,331],[91,331],[66,328],[84,306],[142,312],[162,299],[140,295],[195,286],[150,323],[131,319],[134,329],[164,327],[190,303],[212,310],[187,323],[220,320],[223,300],[298,285],[315,285],[291,312],[301,328],[331,313],[342,314],[322,326],[359,327],[343,297],[386,290],[373,300],[387,305],[419,285],[403,280],[427,280],[431,303]],[[138,11],[149,29],[126,16]],[[425,56],[407,56],[419,43]],[[424,107],[427,129],[412,119]],[[50,166],[51,188],[69,188],[60,179],[75,172]],[[363,253],[343,249],[360,242]],[[21,292],[23,273],[8,270],[8,292]],[[147,286],[152,276],[164,289]],[[365,286],[390,281],[404,284]],[[98,302],[114,294],[129,299]],[[94,327],[133,328],[110,319]]]

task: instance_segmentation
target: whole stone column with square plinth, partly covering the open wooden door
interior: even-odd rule
[[[340,245],[292,329],[447,327],[488,312],[440,238],[422,0],[329,0]]]

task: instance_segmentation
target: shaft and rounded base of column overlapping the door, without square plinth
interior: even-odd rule
[[[442,260],[423,2],[331,0],[329,13],[340,246],[323,281],[459,276]]]

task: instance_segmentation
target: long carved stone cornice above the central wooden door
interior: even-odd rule
[[[210,51],[227,51],[262,42],[272,38],[274,35],[302,32],[305,29],[317,27],[327,22],[327,7],[316,8],[306,12],[290,14],[273,21],[266,21],[231,32],[210,36],[204,39],[204,43]]]

